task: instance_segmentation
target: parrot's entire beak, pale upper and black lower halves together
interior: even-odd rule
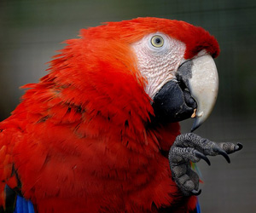
[[[217,68],[211,55],[202,55],[179,66],[176,77],[154,95],[154,116],[168,123],[195,118],[194,131],[209,117],[217,99]]]

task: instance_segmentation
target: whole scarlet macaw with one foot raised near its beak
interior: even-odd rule
[[[200,212],[191,164],[230,163],[242,147],[193,133],[217,99],[217,39],[182,20],[141,17],[65,43],[0,123],[2,210]]]

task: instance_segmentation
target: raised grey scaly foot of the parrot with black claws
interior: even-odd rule
[[[241,143],[237,145],[230,142],[217,144],[194,133],[177,135],[168,156],[172,179],[185,196],[199,195],[201,193],[199,177],[191,169],[190,161],[196,163],[203,159],[211,165],[207,155],[222,155],[230,163],[228,154],[235,153],[241,148]]]

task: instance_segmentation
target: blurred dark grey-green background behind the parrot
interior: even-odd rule
[[[7,118],[38,82],[61,42],[79,29],[105,21],[155,16],[202,26],[217,39],[219,95],[207,122],[195,133],[213,141],[241,141],[231,164],[199,163],[202,212],[256,212],[256,2],[254,0],[0,0],[0,118]],[[255,60],[255,61],[254,61]],[[192,120],[182,123],[188,132]]]

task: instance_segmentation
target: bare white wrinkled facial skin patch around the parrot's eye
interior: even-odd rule
[[[152,42],[155,36],[163,39],[161,46],[157,45],[159,40]],[[153,99],[165,83],[176,78],[175,72],[183,61],[186,46],[177,39],[155,32],[133,43],[131,47],[137,55],[138,70],[148,81],[145,91]]]

